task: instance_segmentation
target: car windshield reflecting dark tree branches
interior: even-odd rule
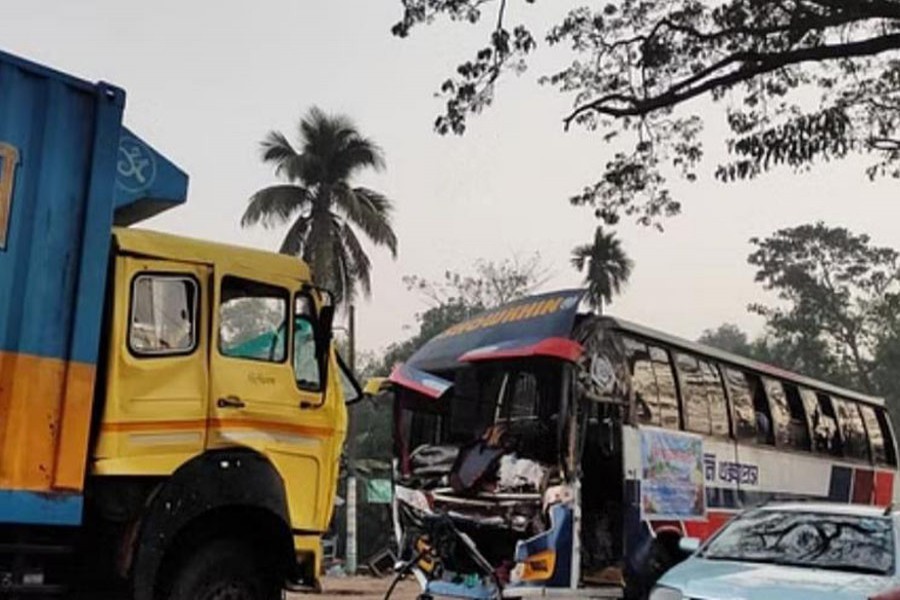
[[[889,574],[889,517],[758,510],[732,521],[703,550],[709,559]]]

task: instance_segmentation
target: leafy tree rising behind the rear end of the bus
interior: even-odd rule
[[[900,254],[872,245],[867,235],[823,223],[781,229],[751,243],[756,250],[748,261],[757,268],[756,281],[781,303],[750,310],[765,317],[776,346],[811,356],[814,364],[801,365],[810,374],[830,371],[877,392],[875,357],[894,347],[900,331]]]

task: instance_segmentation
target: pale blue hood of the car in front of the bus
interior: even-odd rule
[[[896,585],[892,577],[689,558],[659,581],[703,600],[865,600]]]

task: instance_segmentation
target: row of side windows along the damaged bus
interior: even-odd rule
[[[641,424],[896,465],[881,407],[622,337]]]

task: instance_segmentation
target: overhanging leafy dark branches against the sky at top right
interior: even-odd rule
[[[514,0],[401,1],[392,30],[400,37],[442,15],[478,23],[496,9],[490,40],[441,85],[435,127],[461,134],[492,103],[501,75],[526,69],[538,41],[508,22]],[[608,0],[573,8],[545,41],[574,54],[541,78],[573,98],[564,126],[614,144],[598,181],[571,198],[607,223],[630,215],[659,226],[680,211],[667,175],[696,179],[704,121],[675,109],[700,97],[724,105],[730,158],[715,170],[723,181],[852,153],[874,156],[870,177],[900,176],[897,0]]]

